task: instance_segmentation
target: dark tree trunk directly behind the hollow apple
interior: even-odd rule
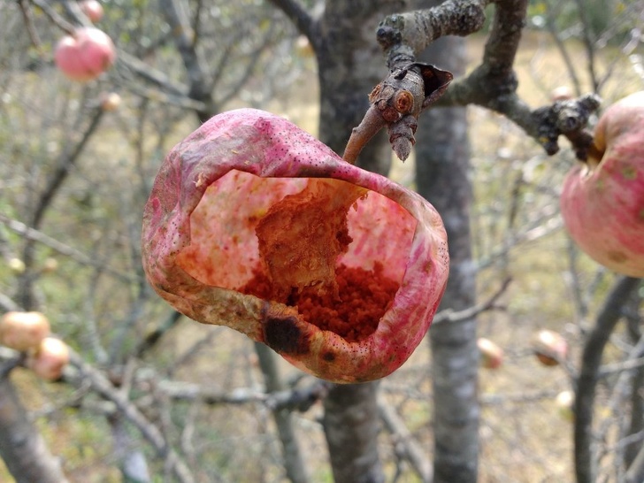
[[[319,137],[342,154],[351,129],[369,108],[369,93],[387,74],[376,27],[400,3],[373,0],[327,1],[311,43],[318,58],[320,83]],[[387,135],[372,139],[358,165],[387,174],[391,164]],[[380,418],[378,383],[334,386],[325,400],[324,427],[336,483],[380,483],[384,473],[378,456]]]

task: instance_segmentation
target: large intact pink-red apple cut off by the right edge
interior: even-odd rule
[[[561,211],[571,238],[610,270],[644,277],[644,92],[599,119],[589,156],[563,181]]]

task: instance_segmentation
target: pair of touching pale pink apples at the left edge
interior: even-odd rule
[[[27,353],[27,367],[42,380],[58,380],[69,362],[69,348],[50,335],[41,312],[12,311],[0,318],[0,343]]]

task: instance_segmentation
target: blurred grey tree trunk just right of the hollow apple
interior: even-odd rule
[[[430,2],[440,4],[440,2]],[[465,45],[443,37],[426,50],[424,60],[456,75],[464,73]],[[455,311],[475,303],[468,177],[470,149],[464,108],[431,109],[418,122],[418,192],[441,213],[449,256],[449,282],[441,309]],[[434,482],[474,482],[479,453],[478,349],[476,319],[432,327]]]

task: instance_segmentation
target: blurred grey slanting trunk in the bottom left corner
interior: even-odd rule
[[[0,456],[16,483],[67,482],[7,377],[0,377]]]

